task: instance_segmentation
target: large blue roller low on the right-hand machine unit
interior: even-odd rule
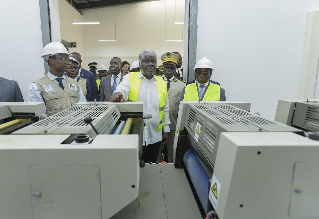
[[[207,213],[209,177],[193,150],[188,150],[185,153],[183,161],[189,177],[195,187],[198,198],[204,208],[205,213]]]

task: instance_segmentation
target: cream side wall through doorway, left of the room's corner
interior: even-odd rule
[[[82,25],[72,24],[73,21],[81,21],[82,15],[65,0],[58,0],[58,5],[61,39],[68,42],[77,42],[77,47],[69,48],[69,52],[78,52],[83,54]],[[82,57],[82,62],[84,62],[84,60],[85,58]]]

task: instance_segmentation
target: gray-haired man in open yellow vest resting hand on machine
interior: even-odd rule
[[[140,72],[130,72],[113,95],[111,102],[141,101],[143,116],[152,114],[144,120],[143,155],[145,162],[156,162],[161,143],[169,140],[169,105],[167,86],[162,77],[155,76],[157,55],[152,50],[144,50],[138,56]]]

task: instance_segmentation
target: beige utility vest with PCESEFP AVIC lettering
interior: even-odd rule
[[[64,90],[47,75],[39,78],[34,83],[42,94],[48,116],[59,113],[79,102],[79,84],[70,77],[65,77]]]

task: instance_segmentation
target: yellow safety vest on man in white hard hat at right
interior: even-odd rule
[[[220,86],[214,83],[209,83],[203,100],[219,101],[219,94]],[[199,100],[196,82],[186,85],[183,100]]]

